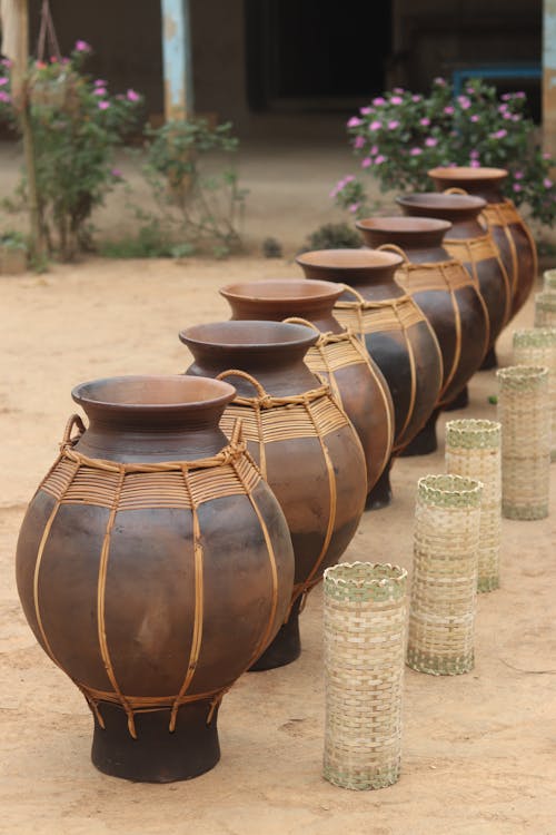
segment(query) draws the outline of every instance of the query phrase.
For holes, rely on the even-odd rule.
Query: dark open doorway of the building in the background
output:
[[[349,110],[385,87],[391,0],[246,0],[249,106]]]

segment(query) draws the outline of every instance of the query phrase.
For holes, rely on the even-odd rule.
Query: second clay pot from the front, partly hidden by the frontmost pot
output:
[[[248,449],[289,525],[296,574],[291,611],[251,669],[294,661],[299,608],[325,569],[338,562],[359,523],[367,492],[361,444],[346,413],[305,365],[318,334],[277,322],[218,322],[180,333],[195,363],[188,374],[234,381],[220,426],[241,419]]]

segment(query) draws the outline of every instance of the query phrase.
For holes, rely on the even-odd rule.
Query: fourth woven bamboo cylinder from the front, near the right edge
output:
[[[502,423],[502,513],[507,519],[548,515],[550,415],[548,369],[499,369]]]

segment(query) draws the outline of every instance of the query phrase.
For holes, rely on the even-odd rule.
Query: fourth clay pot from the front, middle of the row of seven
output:
[[[443,360],[423,311],[395,281],[404,259],[373,249],[321,249],[297,258],[307,278],[349,285],[336,303],[340,324],[361,338],[383,372],[394,401],[394,453],[407,446],[438,402]],[[373,491],[388,503],[388,470]]]

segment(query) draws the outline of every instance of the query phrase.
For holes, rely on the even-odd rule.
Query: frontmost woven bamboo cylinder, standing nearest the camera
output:
[[[325,571],[324,777],[342,788],[399,777],[406,580],[389,563]]]

